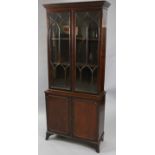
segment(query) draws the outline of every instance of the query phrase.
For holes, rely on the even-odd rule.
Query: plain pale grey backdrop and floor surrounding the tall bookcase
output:
[[[46,12],[42,4],[61,2],[80,2],[86,0],[39,0],[38,1],[38,148],[39,155],[51,154],[96,154],[86,144],[51,137],[45,141],[46,114],[44,91],[48,88],[47,73],[47,27]],[[89,0],[90,1],[90,0]],[[108,0],[111,6],[107,16],[107,47],[106,47],[106,74],[105,90],[106,115],[105,139],[101,143],[101,153],[104,155],[116,154],[116,1]]]

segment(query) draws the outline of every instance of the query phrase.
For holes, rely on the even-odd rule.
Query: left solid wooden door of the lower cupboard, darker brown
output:
[[[69,102],[67,97],[46,96],[48,131],[69,133]]]

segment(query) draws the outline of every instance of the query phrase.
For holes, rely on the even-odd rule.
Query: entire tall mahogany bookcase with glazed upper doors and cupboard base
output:
[[[106,1],[46,4],[46,139],[59,134],[99,152],[104,136]]]

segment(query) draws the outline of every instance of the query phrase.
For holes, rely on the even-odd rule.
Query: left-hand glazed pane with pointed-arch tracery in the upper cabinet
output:
[[[68,12],[48,14],[52,68],[50,87],[70,89],[70,19]]]

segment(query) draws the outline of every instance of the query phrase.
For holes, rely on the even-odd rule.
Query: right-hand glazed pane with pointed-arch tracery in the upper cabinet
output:
[[[97,93],[99,12],[76,13],[76,91]]]

